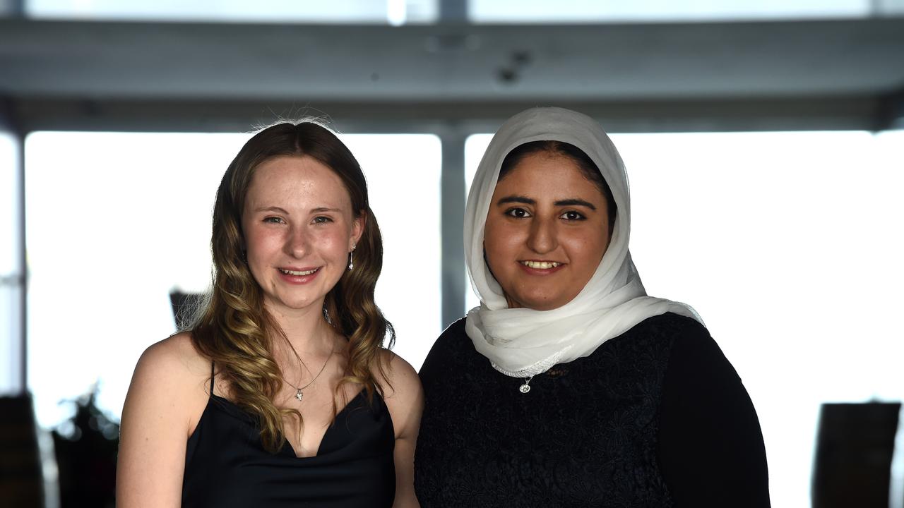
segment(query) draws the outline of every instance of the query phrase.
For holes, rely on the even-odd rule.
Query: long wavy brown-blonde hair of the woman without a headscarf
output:
[[[259,131],[242,146],[223,174],[213,205],[213,284],[190,325],[194,347],[219,367],[229,383],[230,396],[258,419],[261,444],[271,453],[286,443],[284,419],[297,418],[297,409],[278,408],[274,398],[282,386],[282,372],[273,356],[273,342],[287,340],[263,306],[263,295],[244,261],[241,214],[257,167],[281,155],[309,156],[337,174],[351,197],[355,217],[364,217],[361,240],[354,250],[354,269],[346,270],[327,293],[324,316],[336,332],[348,338],[346,383],[363,385],[368,400],[381,390],[375,373],[385,379],[389,355],[383,342],[395,333],[373,301],[382,268],[382,240],[367,197],[367,183],[352,152],[334,133],[314,121],[283,122]],[[335,414],[335,404],[334,404]]]

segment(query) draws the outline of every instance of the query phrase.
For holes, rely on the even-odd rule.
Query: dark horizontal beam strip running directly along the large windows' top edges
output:
[[[16,118],[33,130],[236,132],[280,118],[313,116],[345,132],[442,132],[449,123],[493,132],[533,106],[586,112],[610,132],[733,130],[881,130],[891,125],[889,98],[464,101],[202,101],[18,99]],[[895,103],[900,107],[900,99]],[[900,114],[900,108],[898,109]]]

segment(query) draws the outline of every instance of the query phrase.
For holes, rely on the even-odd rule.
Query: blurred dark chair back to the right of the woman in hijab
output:
[[[813,508],[888,508],[900,403],[823,404]]]

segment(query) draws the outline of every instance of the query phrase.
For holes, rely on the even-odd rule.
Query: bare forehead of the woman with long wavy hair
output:
[[[338,174],[307,155],[283,155],[258,165],[251,177],[246,202],[257,205],[351,207],[351,198]]]

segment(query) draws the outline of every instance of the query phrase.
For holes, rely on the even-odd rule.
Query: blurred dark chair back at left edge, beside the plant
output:
[[[44,505],[41,453],[30,395],[0,397],[0,505]]]

